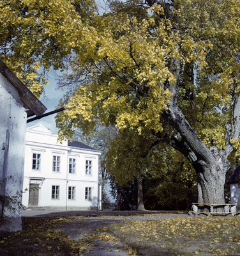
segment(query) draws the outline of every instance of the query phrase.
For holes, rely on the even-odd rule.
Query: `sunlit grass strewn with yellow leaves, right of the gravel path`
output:
[[[186,217],[114,223],[109,232],[143,255],[240,255],[240,218]]]

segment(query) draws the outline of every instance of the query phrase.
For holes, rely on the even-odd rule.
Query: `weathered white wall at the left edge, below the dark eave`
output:
[[[19,102],[15,89],[0,74],[0,180],[13,177],[0,186],[1,195],[15,196],[23,185],[27,114]],[[22,229],[21,210],[7,210],[4,214],[11,223],[1,225],[0,230],[11,232]]]

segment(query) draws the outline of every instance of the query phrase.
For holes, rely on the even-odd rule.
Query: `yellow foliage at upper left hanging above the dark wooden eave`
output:
[[[47,84],[40,70],[63,68],[77,51],[80,31],[91,19],[91,0],[3,0],[0,2],[0,58],[36,95]]]

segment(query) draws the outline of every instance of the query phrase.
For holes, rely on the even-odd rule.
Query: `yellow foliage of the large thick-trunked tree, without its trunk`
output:
[[[76,126],[88,129],[94,118],[139,134],[164,131],[161,113],[176,83],[170,61],[178,58],[183,67],[179,107],[207,146],[225,148],[224,124],[233,83],[239,84],[234,71],[239,1],[181,0],[164,10],[164,4],[154,4],[146,12],[137,3],[129,3],[128,11],[112,4],[111,12],[95,17],[99,26],[82,29],[79,52],[68,60],[69,72],[60,81],[71,92],[64,102],[68,111],[57,118],[60,139]],[[194,67],[194,81],[185,76],[188,67]],[[195,95],[192,106],[188,90]]]

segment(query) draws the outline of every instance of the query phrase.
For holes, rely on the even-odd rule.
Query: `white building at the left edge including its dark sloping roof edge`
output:
[[[33,93],[0,60],[0,195],[16,196],[22,191],[27,116],[41,116],[47,110]],[[10,179],[11,177],[11,179]],[[5,196],[5,197],[4,197]],[[19,198],[21,202],[22,198]],[[4,200],[0,202],[3,209]],[[16,205],[11,205],[15,207]],[[0,230],[22,229],[21,209],[1,211],[6,223]],[[10,222],[9,222],[10,221]]]

